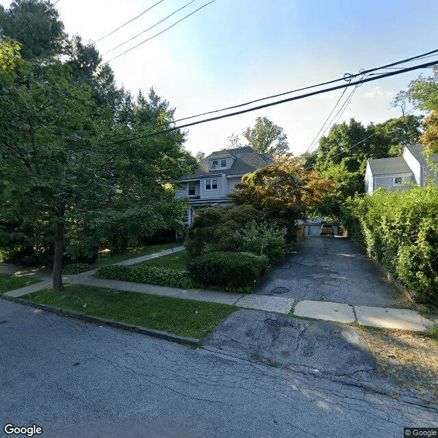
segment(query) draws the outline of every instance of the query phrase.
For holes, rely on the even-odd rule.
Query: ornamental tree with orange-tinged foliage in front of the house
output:
[[[237,205],[253,205],[264,218],[286,227],[291,239],[297,220],[305,220],[311,207],[324,203],[323,195],[335,190],[331,179],[306,170],[296,157],[274,159],[276,164],[248,173],[231,197]]]

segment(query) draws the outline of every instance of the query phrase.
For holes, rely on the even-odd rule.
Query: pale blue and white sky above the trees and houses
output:
[[[436,0],[214,0],[163,34],[116,57],[209,0],[187,5],[189,1],[59,0],[55,8],[69,36],[79,34],[83,42],[96,43],[103,61],[112,66],[118,86],[134,96],[139,90],[147,94],[153,87],[176,109],[176,119],[330,81],[438,48]],[[136,20],[99,40],[157,2]],[[0,3],[8,7],[10,1]],[[110,51],[184,5],[163,23]],[[438,56],[428,58],[434,59]],[[368,125],[401,116],[391,100],[420,73],[430,75],[431,70],[363,84],[334,121],[355,118]],[[242,132],[255,125],[257,117],[266,116],[283,127],[290,151],[300,155],[318,147],[318,142],[311,144],[341,94],[342,90],[337,90],[190,127],[185,129],[185,148],[208,155],[229,147],[227,137],[232,133],[240,134],[246,144]],[[329,128],[324,132],[328,134]]]

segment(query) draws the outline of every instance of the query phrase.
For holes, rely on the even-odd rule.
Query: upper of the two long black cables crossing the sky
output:
[[[196,114],[195,116],[188,116],[188,117],[179,118],[177,120],[172,120],[172,122],[173,123],[178,123],[178,122],[183,122],[184,120],[190,120],[191,118],[207,116],[209,114],[215,114],[215,113],[222,112],[222,111],[227,111],[227,110],[235,110],[235,108],[244,107],[244,106],[247,106],[247,105],[251,105],[253,103],[257,103],[257,102],[261,102],[261,101],[266,101],[268,99],[274,99],[276,97],[285,96],[287,94],[292,94],[292,93],[299,92],[299,91],[310,90],[311,88],[318,88],[318,87],[330,85],[331,83],[336,83],[336,82],[339,82],[339,81],[348,81],[348,80],[354,79],[355,77],[363,76],[365,74],[374,72],[376,70],[383,70],[383,69],[388,68],[390,66],[394,66],[394,65],[398,65],[398,64],[404,64],[406,62],[411,62],[413,60],[420,60],[423,57],[434,56],[434,55],[432,55],[432,53],[438,53],[438,49],[430,51],[428,53],[423,53],[422,55],[417,55],[417,56],[414,56],[414,57],[409,57],[409,58],[407,58],[405,60],[401,60],[401,61],[397,61],[397,62],[392,62],[391,64],[387,64],[385,66],[370,68],[369,70],[361,70],[359,73],[355,73],[354,75],[352,75],[350,73],[346,73],[344,75],[344,77],[340,77],[338,79],[333,79],[331,81],[317,83],[315,85],[307,86],[307,87],[304,87],[304,88],[297,88],[296,90],[286,91],[286,92],[283,92],[283,93],[274,94],[272,96],[262,97],[261,99],[255,99],[253,101],[248,101],[248,102],[245,102],[245,103],[240,103],[238,105],[232,105],[232,106],[229,106],[229,107],[221,108],[220,110],[213,110],[213,111],[203,112],[201,114]],[[378,74],[380,75],[381,73],[378,73]],[[161,127],[161,126],[164,126],[164,125],[153,125],[151,127],[135,129],[135,130],[131,131],[131,133],[142,132],[142,131],[146,131],[148,129],[153,129],[153,128],[157,128],[157,127]]]

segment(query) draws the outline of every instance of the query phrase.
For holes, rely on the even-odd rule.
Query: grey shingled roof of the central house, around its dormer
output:
[[[210,159],[220,157],[233,157],[234,162],[231,168],[215,170],[214,173],[223,173],[224,175],[244,175],[248,172],[254,172],[254,170],[273,164],[272,157],[267,153],[257,153],[250,146],[244,146],[242,148],[224,149],[223,151],[216,151],[211,153],[208,157],[201,159],[196,171],[190,175],[185,175],[181,178],[181,181],[185,179],[199,178],[204,175],[209,175],[208,162]]]

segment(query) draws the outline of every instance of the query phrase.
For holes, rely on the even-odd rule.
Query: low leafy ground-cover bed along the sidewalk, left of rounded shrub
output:
[[[155,266],[102,266],[96,271],[95,276],[99,279],[133,281],[134,283],[178,287],[180,289],[193,289],[199,286],[187,271]]]

